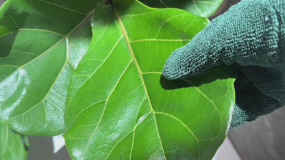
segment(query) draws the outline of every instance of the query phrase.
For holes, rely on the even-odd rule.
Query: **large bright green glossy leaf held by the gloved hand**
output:
[[[227,133],[234,78],[222,68],[180,81],[161,76],[171,52],[207,23],[138,1],[99,5],[67,96],[71,157],[210,159]]]

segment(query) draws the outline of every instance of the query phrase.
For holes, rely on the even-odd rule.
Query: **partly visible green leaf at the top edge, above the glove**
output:
[[[153,8],[181,8],[196,14],[209,17],[219,8],[223,0],[140,0]]]

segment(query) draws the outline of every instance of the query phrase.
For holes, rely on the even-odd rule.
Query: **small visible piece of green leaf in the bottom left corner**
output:
[[[23,142],[26,139],[27,137],[0,123],[0,159],[26,159],[27,146]]]

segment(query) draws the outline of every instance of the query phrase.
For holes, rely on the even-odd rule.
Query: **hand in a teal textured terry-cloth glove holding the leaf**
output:
[[[243,0],[167,59],[166,79],[238,65],[231,128],[285,105],[285,1]]]

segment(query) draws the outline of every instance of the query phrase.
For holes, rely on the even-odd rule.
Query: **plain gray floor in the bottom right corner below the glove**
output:
[[[285,159],[285,107],[229,132],[242,159]]]

